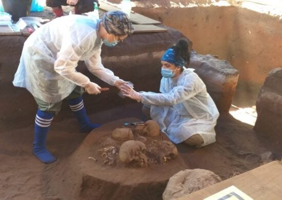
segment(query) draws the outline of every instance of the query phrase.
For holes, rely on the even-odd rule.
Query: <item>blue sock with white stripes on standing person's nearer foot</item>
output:
[[[34,142],[32,153],[42,163],[50,164],[56,161],[54,157],[46,149],[46,137],[53,119],[53,114],[41,110],[37,110],[34,125]]]

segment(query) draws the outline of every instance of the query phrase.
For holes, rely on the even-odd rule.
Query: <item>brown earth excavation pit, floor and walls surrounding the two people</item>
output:
[[[134,34],[123,45],[113,49],[103,47],[105,67],[134,83],[138,91],[157,92],[160,57],[179,38],[189,38],[196,51],[196,56],[192,57],[194,64],[202,58],[207,59],[204,64],[193,66],[192,62],[189,67],[197,67],[196,72],[206,78],[208,91],[220,110],[215,127],[217,142],[201,149],[178,144],[177,158],[165,165],[136,168],[95,161],[97,156],[91,148],[98,150],[94,145],[98,135],[109,134],[129,122],[127,117],[137,118],[130,119],[132,122],[143,117],[142,105],[119,98],[118,91],[110,87],[99,96],[84,95],[91,121],[106,125],[95,133],[80,134],[72,113],[63,104],[62,111],[54,117],[47,139],[48,149],[58,160],[52,165],[43,165],[31,154],[36,104],[26,90],[14,88],[11,83],[27,37],[0,36],[0,196],[4,199],[162,199],[169,177],[180,170],[207,169],[224,180],[281,158],[280,132],[271,127],[275,131],[271,134],[266,128],[278,123],[264,121],[275,119],[275,116],[270,117],[273,113],[280,117],[279,113],[271,111],[275,110],[271,99],[267,99],[271,109],[266,110],[262,105],[266,98],[260,98],[263,115],[260,116],[261,124],[256,125],[259,134],[253,126],[237,121],[228,113],[232,98],[233,103],[238,103],[236,105],[254,105],[269,71],[281,67],[282,24],[279,16],[236,6],[140,6],[134,10],[162,21],[168,32]],[[50,16],[48,12],[50,10],[35,15]],[[176,21],[178,16],[183,17]],[[228,73],[230,70],[224,66],[216,69],[210,65],[211,61],[222,63],[222,59],[233,66],[232,73]],[[80,63],[78,69],[92,81],[108,87],[92,76],[84,64]],[[268,89],[265,91],[269,92]],[[281,96],[279,88],[276,89],[275,96]],[[117,119],[120,121],[115,121]]]

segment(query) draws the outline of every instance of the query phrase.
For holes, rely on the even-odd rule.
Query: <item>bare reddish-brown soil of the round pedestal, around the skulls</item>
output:
[[[118,152],[108,152],[101,156],[101,139],[111,134],[116,127],[124,123],[136,122],[136,118],[124,118],[107,123],[97,130],[93,130],[84,140],[82,145],[67,158],[68,168],[65,168],[62,178],[65,179],[64,187],[72,188],[64,199],[161,199],[168,179],[180,170],[186,169],[181,156],[163,163],[152,163],[148,159],[148,167],[137,167],[133,163],[125,165],[115,159]],[[135,135],[135,139],[138,139]],[[146,155],[149,155],[150,138]],[[153,139],[153,138],[151,138]],[[160,139],[160,138],[154,138]],[[105,141],[103,142],[105,145]],[[108,146],[108,145],[106,145]],[[104,147],[106,147],[104,146]],[[118,142],[113,146],[118,147]],[[144,152],[145,153],[145,152]],[[160,153],[160,152],[159,152]],[[114,163],[105,162],[113,161]],[[103,164],[104,163],[104,164]],[[55,180],[57,181],[57,180]],[[51,180],[52,182],[52,180]],[[124,192],[126,191],[126,192]]]

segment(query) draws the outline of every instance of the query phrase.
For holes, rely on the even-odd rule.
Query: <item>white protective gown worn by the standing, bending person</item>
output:
[[[66,98],[89,78],[75,70],[85,61],[88,70],[109,85],[119,79],[101,62],[103,44],[99,19],[82,15],[58,17],[32,33],[26,40],[13,84],[26,88],[48,103]]]

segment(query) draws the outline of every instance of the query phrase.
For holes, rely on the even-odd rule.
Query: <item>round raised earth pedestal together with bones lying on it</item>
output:
[[[138,134],[139,130],[135,130],[135,126],[130,126],[134,140],[124,142],[112,138],[112,132],[116,127],[137,121],[134,118],[125,118],[107,123],[93,130],[85,138],[68,159],[69,169],[64,178],[66,187],[72,188],[69,197],[162,198],[168,179],[187,167],[177,156],[176,147],[162,135],[142,136]],[[123,150],[122,146],[126,148]],[[122,162],[119,158],[120,151],[128,151],[127,162]]]

